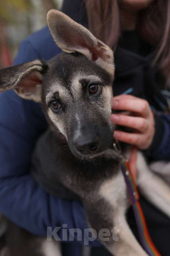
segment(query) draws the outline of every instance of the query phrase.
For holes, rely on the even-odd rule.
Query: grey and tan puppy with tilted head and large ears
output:
[[[51,10],[47,21],[63,52],[47,63],[34,60],[0,71],[0,91],[14,89],[25,99],[41,102],[49,122],[37,143],[32,174],[49,193],[81,200],[97,234],[117,227],[119,240],[102,242],[113,255],[146,256],[126,222],[122,158],[111,149],[113,52],[62,12]],[[137,182],[143,195],[170,217],[170,188],[149,172],[141,153]],[[56,241],[28,235],[16,226],[12,230],[8,255],[61,255]]]

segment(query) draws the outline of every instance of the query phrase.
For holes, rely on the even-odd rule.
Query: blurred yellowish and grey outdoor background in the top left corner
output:
[[[0,0],[0,69],[12,64],[19,44],[44,27],[50,9],[60,9],[63,0]]]

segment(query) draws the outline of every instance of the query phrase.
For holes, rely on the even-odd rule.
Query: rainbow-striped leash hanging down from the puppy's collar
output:
[[[116,151],[120,153],[120,147],[117,141],[113,142],[113,147]],[[133,179],[133,176],[130,172],[130,168],[127,160],[125,160],[122,163],[121,170],[127,185],[128,195],[132,204],[142,247],[149,256],[161,256],[161,254],[158,252],[158,250],[154,246],[151,240],[151,237],[149,235],[145,217],[144,217],[141,205],[139,203],[139,193],[138,193],[135,181]]]

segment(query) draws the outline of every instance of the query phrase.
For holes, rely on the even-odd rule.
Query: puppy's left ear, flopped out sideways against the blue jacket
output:
[[[34,60],[0,70],[0,92],[14,89],[22,98],[41,102],[41,83],[47,64]]]

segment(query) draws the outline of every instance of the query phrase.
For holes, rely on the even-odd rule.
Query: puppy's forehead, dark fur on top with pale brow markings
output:
[[[110,85],[112,77],[82,54],[60,53],[50,61],[48,76],[44,83],[46,101],[58,94],[63,101],[79,99],[82,96],[82,81],[103,82]]]

